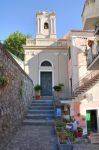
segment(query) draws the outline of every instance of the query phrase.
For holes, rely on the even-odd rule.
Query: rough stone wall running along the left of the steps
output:
[[[32,97],[32,80],[0,45],[0,150],[21,123]]]

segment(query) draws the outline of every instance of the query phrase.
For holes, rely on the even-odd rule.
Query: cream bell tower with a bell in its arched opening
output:
[[[56,38],[56,14],[40,11],[36,14],[36,38]]]

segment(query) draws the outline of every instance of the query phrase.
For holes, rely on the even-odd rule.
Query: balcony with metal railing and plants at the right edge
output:
[[[92,47],[87,51],[88,70],[99,70],[99,39],[95,39]]]

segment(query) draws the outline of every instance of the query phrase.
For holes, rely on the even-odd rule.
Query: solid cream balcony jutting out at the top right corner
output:
[[[99,21],[99,0],[86,0],[82,21],[84,30],[94,30],[96,23]]]

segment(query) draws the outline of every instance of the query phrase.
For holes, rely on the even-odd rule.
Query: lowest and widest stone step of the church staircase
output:
[[[34,120],[34,119],[25,119],[23,121],[23,125],[54,125],[54,120],[51,119],[39,119],[39,120]]]

